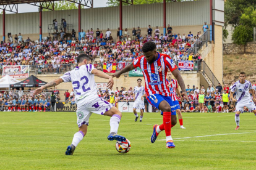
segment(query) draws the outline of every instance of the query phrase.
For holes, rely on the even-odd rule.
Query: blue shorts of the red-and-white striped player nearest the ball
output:
[[[164,96],[161,94],[152,94],[147,97],[148,102],[153,106],[159,109],[159,104],[165,100],[169,103],[171,106],[171,115],[176,115],[176,108],[174,106],[173,100],[171,100],[171,97]]]

